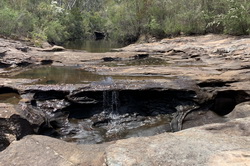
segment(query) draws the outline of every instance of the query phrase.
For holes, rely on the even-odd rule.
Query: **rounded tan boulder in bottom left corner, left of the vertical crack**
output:
[[[35,166],[101,166],[105,148],[102,145],[77,145],[46,136],[27,136],[13,142],[0,153],[0,165]]]

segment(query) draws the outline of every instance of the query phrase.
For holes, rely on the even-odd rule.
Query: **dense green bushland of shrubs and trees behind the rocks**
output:
[[[118,42],[250,34],[249,0],[1,0],[0,35],[63,44],[94,31]]]

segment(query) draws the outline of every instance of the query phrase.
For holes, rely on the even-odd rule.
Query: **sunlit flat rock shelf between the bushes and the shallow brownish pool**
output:
[[[196,83],[220,82],[230,85],[233,82],[247,83],[250,79],[250,38],[247,37],[224,35],[178,37],[155,43],[132,44],[118,49],[120,52],[107,53],[63,49],[59,52],[44,52],[35,47],[29,47],[27,52],[22,52],[18,48],[26,47],[24,43],[4,39],[0,41],[2,50],[7,50],[5,56],[7,59],[3,59],[2,63],[7,65],[25,66],[29,63],[50,62],[52,65],[82,67],[101,75],[166,78],[156,80],[159,83],[162,80],[171,82],[169,79],[175,80],[176,77],[177,80],[183,77]],[[49,50],[53,50],[53,47]],[[147,58],[164,63],[138,62]],[[113,61],[105,62],[105,59]],[[244,84],[243,87],[249,86]]]

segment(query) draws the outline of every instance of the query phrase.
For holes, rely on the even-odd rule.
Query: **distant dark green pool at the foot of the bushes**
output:
[[[113,48],[124,47],[124,45],[110,40],[76,40],[66,43],[64,47],[88,52],[108,52]]]

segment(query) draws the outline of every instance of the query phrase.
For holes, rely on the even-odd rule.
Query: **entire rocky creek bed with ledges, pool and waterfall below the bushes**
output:
[[[88,53],[0,39],[0,165],[247,165],[249,46],[206,35]]]

